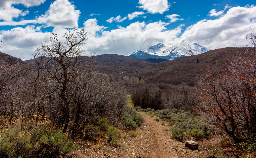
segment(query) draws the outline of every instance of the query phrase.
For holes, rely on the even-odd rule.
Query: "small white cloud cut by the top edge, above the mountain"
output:
[[[141,4],[139,8],[147,10],[152,14],[163,14],[165,11],[168,11],[170,7],[167,0],[140,0],[139,4]]]

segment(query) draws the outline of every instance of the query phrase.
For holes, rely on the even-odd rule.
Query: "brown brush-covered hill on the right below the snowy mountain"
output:
[[[228,59],[246,48],[221,48],[207,51],[199,55],[181,57],[172,61],[164,61],[143,69],[137,76],[142,77],[146,83],[180,84],[182,82],[194,86],[198,76],[207,73],[209,67],[218,67],[224,71]],[[197,58],[199,62],[197,63]]]

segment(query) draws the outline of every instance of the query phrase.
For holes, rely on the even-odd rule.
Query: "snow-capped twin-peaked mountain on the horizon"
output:
[[[162,58],[173,60],[183,56],[191,56],[204,53],[210,49],[201,46],[197,43],[182,41],[181,43],[171,46],[166,49],[163,43],[158,43],[149,47],[148,49],[140,49],[132,53],[124,54],[126,56],[146,59],[146,58]]]

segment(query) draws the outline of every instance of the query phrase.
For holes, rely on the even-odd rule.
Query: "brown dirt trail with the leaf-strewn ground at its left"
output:
[[[171,139],[170,126],[162,125],[162,121],[155,121],[156,116],[141,114],[145,121],[136,130],[136,137],[124,136],[121,142],[125,145],[121,148],[113,148],[106,144],[101,149],[94,150],[92,145],[81,146],[73,152],[74,157],[152,157],[152,158],[180,158],[180,157],[206,157],[205,151],[192,151],[186,149],[184,143]]]

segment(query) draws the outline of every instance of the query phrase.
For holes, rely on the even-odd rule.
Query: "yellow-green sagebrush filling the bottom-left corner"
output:
[[[0,157],[26,157],[32,145],[28,136],[18,127],[4,129],[0,138]]]

